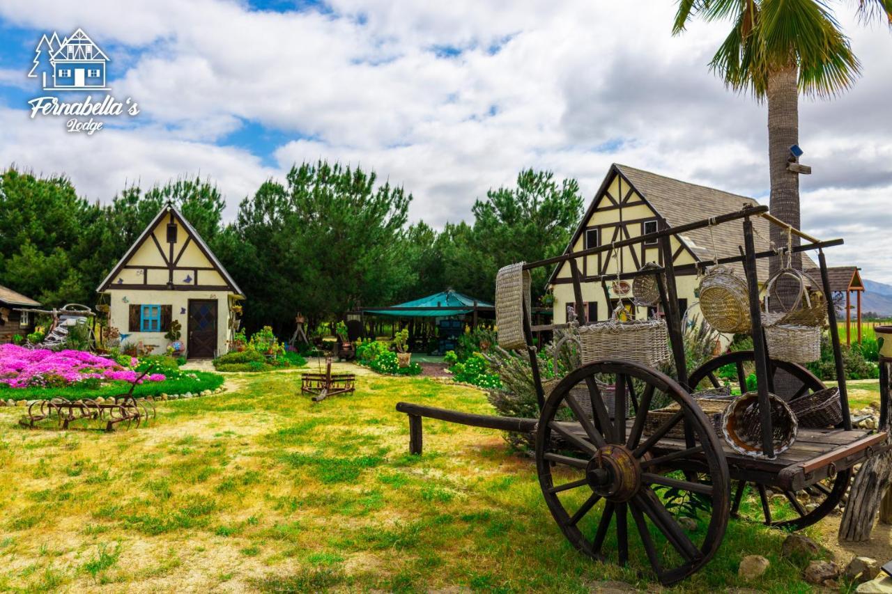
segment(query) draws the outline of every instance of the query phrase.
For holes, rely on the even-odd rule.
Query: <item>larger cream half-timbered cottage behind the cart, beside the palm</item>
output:
[[[626,165],[614,164],[607,172],[603,184],[586,210],[582,222],[574,232],[567,249],[578,252],[600,245],[609,245],[637,235],[657,231],[661,220],[673,227],[699,219],[721,215],[744,206],[756,206],[758,202],[738,194],[731,194],[711,187],[690,184],[671,177],[664,177],[649,171],[634,169]],[[756,228],[756,250],[769,248],[769,223],[761,217],[753,219]],[[740,220],[725,223],[720,227],[706,227],[681,235],[673,235],[671,248],[675,266],[694,262],[711,262],[714,258],[739,255],[739,241],[728,241],[729,237],[743,236]],[[638,270],[646,262],[663,264],[663,254],[657,242],[636,243],[632,246],[600,252],[587,256],[579,262],[583,279],[593,276],[615,274]],[[739,274],[743,269],[735,266]],[[803,254],[804,268],[814,268],[815,264]],[[760,282],[768,276],[768,260],[758,260]],[[677,271],[679,310],[690,308],[690,316],[697,315],[697,288],[699,279],[693,271]],[[644,318],[662,315],[658,308],[636,307],[632,305],[634,295],[631,284],[607,281],[607,295],[598,283],[582,285],[582,299],[586,304],[586,318],[590,321],[605,320],[616,309],[620,300],[629,315]],[[549,286],[554,293],[555,324],[566,322],[568,309],[574,305],[573,285],[568,264],[555,268],[549,278]],[[625,291],[629,291],[626,294]]]

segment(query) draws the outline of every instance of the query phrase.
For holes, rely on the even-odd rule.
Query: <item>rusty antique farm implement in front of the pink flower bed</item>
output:
[[[72,423],[99,422],[105,431],[114,431],[117,426],[138,427],[148,424],[155,418],[155,407],[151,400],[133,398],[129,394],[115,396],[103,402],[85,398],[83,400],[35,400],[28,407],[28,414],[21,417],[20,423],[34,428],[41,421],[55,421],[60,429],[70,429]]]

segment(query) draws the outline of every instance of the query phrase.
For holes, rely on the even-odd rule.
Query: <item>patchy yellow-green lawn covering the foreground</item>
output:
[[[359,373],[355,395],[318,404],[298,373],[228,375],[229,392],[159,403],[155,425],[111,434],[21,429],[21,410],[0,408],[0,590],[648,585],[640,556],[620,569],[567,544],[532,462],[498,433],[425,420],[425,455],[408,454],[398,400],[491,413],[482,392]],[[784,537],[732,522],[676,590],[808,591]],[[737,577],[749,554],[772,561],[757,584]]]

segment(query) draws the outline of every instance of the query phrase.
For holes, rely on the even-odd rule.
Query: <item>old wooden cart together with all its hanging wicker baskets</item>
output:
[[[678,582],[706,565],[747,492],[753,499],[757,496],[756,506],[761,507],[760,516],[766,524],[799,529],[829,514],[843,497],[853,466],[886,449],[887,435],[855,430],[849,417],[836,312],[823,253],[842,240],[819,241],[783,226],[767,210],[764,206],[747,207],[676,227],[661,219],[652,233],[515,265],[516,270],[510,271],[515,276],[510,278],[521,290],[510,293],[497,285],[497,310],[500,289],[505,289],[503,296],[516,295],[512,306],[516,324],[500,321],[499,340],[500,344],[508,342],[506,348],[526,351],[539,417],[488,417],[400,402],[397,410],[409,416],[410,450],[422,452],[423,417],[534,433],[542,497],[566,539],[582,553],[602,561],[650,565],[665,584]],[[786,248],[756,252],[753,220],[757,217],[784,227],[805,242],[794,245],[790,240]],[[737,229],[742,227],[739,256],[706,264],[673,264],[673,237],[681,241],[680,234],[731,221],[737,221]],[[723,237],[731,241],[731,233]],[[644,242],[657,243],[658,264],[635,272],[621,273],[617,266],[615,274],[584,278],[580,274],[577,260]],[[792,319],[792,312],[772,314],[764,306],[760,293],[770,289],[773,280],[762,279],[760,289],[756,262],[812,250],[818,254],[820,281],[806,287],[808,279],[803,280],[800,297],[804,305],[795,312],[798,321],[780,324],[778,318]],[[531,325],[530,304],[523,291],[528,276],[524,275],[532,268],[565,263],[571,273],[566,282],[574,288],[582,364],[558,382],[551,380],[543,386],[533,331],[564,331],[567,325]],[[744,274],[735,279],[729,267],[740,264]],[[753,349],[719,356],[689,375],[676,275],[706,268],[710,272],[699,292],[704,317],[711,316],[714,326],[727,324],[734,328],[731,332],[751,334]],[[789,269],[785,274],[796,276]],[[607,282],[618,285],[643,278],[650,281],[657,296],[655,305],[663,312],[662,320],[634,324],[613,320],[585,326],[583,284],[600,283],[609,300]],[[708,294],[711,291],[714,295]],[[805,291],[811,291],[811,296]],[[819,293],[827,297],[822,300]],[[707,302],[715,295],[728,299]],[[510,318],[512,312],[506,311]],[[838,378],[838,390],[832,391],[797,362],[807,360],[802,357],[808,353],[802,351],[814,350],[810,342],[814,326],[827,322]],[[807,326],[809,323],[813,326]],[[795,339],[800,331],[811,338],[791,341],[780,334],[793,333]],[[512,333],[516,335],[508,335]],[[664,333],[662,344],[660,333]],[[820,338],[820,327],[817,335]],[[592,345],[598,348],[593,350]],[[664,357],[659,349],[665,350],[666,345],[669,352],[665,356],[672,364],[668,367],[674,369],[671,375],[665,373],[667,366],[662,366],[664,371],[657,369],[657,361]],[[789,385],[776,390],[775,384],[781,382]],[[887,394],[881,394],[881,399],[885,414]],[[836,408],[828,408],[827,403]],[[715,412],[714,406],[723,412]],[[698,503],[693,522],[679,513],[691,501]]]

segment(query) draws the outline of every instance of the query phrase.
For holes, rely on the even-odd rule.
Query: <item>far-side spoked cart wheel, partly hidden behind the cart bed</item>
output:
[[[747,375],[754,366],[753,351],[731,352],[706,361],[698,367],[690,375],[690,385],[694,386],[695,390],[718,388],[723,385],[724,377],[729,379],[732,388],[737,387],[741,393],[747,392]],[[777,369],[782,369],[792,376],[792,387],[795,392],[789,400],[825,388],[816,375],[797,363],[771,359],[768,367],[769,381]],[[728,375],[731,377],[729,378]],[[743,516],[761,516],[765,525],[786,530],[802,530],[805,526],[822,520],[839,505],[839,501],[846,494],[851,478],[851,470],[846,470],[821,483],[805,487],[801,491],[774,490],[772,492],[769,492],[769,488],[763,484],[739,481],[734,488],[734,497],[731,501],[731,516],[740,517],[740,508],[743,506]],[[747,484],[750,485],[749,490],[747,490]],[[757,511],[755,514],[747,514],[747,508],[752,506],[761,507],[761,514],[758,514]]]

